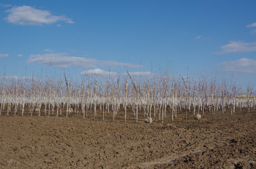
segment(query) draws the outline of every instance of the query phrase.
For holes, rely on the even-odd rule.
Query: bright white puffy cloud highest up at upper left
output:
[[[55,23],[59,20],[63,20],[66,23],[74,23],[72,19],[66,16],[54,16],[51,12],[46,10],[35,9],[31,6],[18,6],[13,7],[5,12],[10,12],[8,17],[4,18],[9,23],[20,25],[42,25]]]

